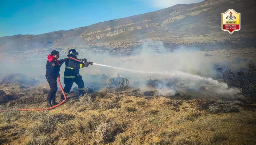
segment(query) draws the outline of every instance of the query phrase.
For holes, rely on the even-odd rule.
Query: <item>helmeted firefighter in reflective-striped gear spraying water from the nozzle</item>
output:
[[[77,59],[77,56],[79,53],[75,49],[69,50],[68,57],[72,57]],[[69,58],[65,62],[65,71],[64,71],[64,84],[65,87],[63,88],[65,95],[67,96],[70,92],[70,89],[72,88],[73,83],[75,82],[78,86],[79,95],[84,95],[84,81],[82,79],[82,76],[79,74],[79,69],[83,67],[88,67],[89,63],[87,62],[87,59],[78,59],[82,62],[78,62],[76,60],[73,60]],[[64,100],[64,95],[62,94],[61,100]]]

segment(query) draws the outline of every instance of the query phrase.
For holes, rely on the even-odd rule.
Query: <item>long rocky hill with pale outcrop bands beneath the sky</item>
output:
[[[256,10],[254,0],[205,0],[66,31],[1,37],[0,52],[211,34],[222,31],[221,13],[230,8],[241,13],[240,31],[255,27],[255,19],[252,19]]]

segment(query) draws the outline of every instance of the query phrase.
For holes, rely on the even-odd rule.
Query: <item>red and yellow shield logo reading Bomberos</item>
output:
[[[233,9],[229,9],[227,12],[222,13],[222,30],[228,31],[232,34],[234,31],[239,31],[241,26],[241,15]]]

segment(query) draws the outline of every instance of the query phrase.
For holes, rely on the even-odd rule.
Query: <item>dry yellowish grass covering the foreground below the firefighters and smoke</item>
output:
[[[11,85],[8,87],[14,87],[14,92],[20,89]],[[0,89],[3,87],[0,86]],[[28,91],[27,88],[23,90]],[[97,97],[86,94],[50,111],[25,112],[14,109],[0,113],[0,141],[3,144],[31,145],[214,145],[256,142],[254,107],[247,110],[227,102],[201,99],[184,101],[157,96],[146,100],[146,97],[130,96],[130,92],[132,90],[118,93],[109,91],[101,97],[97,93]],[[27,102],[34,97],[42,98],[42,93],[32,93],[32,89],[26,93],[30,94],[24,99],[9,101],[0,107],[40,107],[39,102],[43,99]],[[234,108],[239,111],[232,111]]]

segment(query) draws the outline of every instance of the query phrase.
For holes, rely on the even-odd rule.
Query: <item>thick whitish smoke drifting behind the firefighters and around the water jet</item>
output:
[[[19,72],[35,78],[41,75],[38,78],[43,84],[47,84],[44,78],[45,64],[47,55],[52,50],[42,51],[38,49],[3,54],[1,61],[4,63],[1,63],[0,67],[5,69],[1,74]],[[58,51],[60,52],[60,59],[62,59],[66,58],[69,49],[58,49]],[[227,84],[223,82],[210,78],[216,74],[213,69],[214,63],[210,57],[198,53],[199,50],[197,49],[169,50],[164,47],[162,42],[147,42],[126,57],[112,57],[107,52],[96,54],[86,49],[77,49],[77,51],[80,53],[79,59],[87,58],[88,61],[97,64],[133,70],[127,71],[89,65],[89,67],[80,70],[86,87],[93,86],[95,89],[100,89],[109,86],[110,77],[116,77],[118,73],[129,78],[129,87],[140,87],[142,89],[152,89],[148,87],[147,83],[149,82],[148,77],[153,75],[159,80],[155,82],[155,87],[161,94],[175,95],[177,92],[191,90],[200,92],[202,87],[207,89],[209,95],[216,94],[216,96],[234,95],[240,92],[237,89],[228,88]],[[62,66],[61,77],[63,77],[63,72],[64,67]],[[63,78],[61,78],[61,82],[63,84]],[[73,87],[75,86],[74,84]]]

